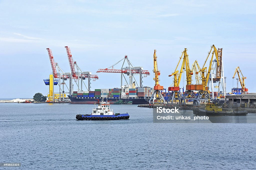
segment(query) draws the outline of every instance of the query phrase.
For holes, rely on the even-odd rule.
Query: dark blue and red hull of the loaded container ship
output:
[[[72,96],[68,96],[69,99],[71,100],[71,104],[94,104],[97,99],[99,99],[100,101],[102,100],[102,98],[76,98],[76,97],[72,97]],[[114,104],[116,101],[118,101],[121,98],[104,98],[105,100],[108,100],[108,102],[110,104]],[[128,98],[128,99],[121,99],[123,100],[123,102],[128,102],[128,101],[132,101],[132,104],[134,105],[143,105],[143,104],[149,104],[149,99],[147,98]]]

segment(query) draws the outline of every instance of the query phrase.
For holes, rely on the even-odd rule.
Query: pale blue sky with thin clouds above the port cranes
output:
[[[61,69],[70,72],[65,46],[83,71],[98,74],[99,80],[91,82],[94,90],[120,87],[120,74],[96,72],[124,55],[134,66],[151,72],[143,78],[143,85],[153,87],[154,49],[160,84],[167,88],[173,82],[168,75],[184,48],[190,66],[195,60],[202,66],[214,44],[223,48],[227,92],[237,86],[232,79],[237,66],[247,77],[249,92],[256,92],[255,6],[255,1],[236,0],[0,0],[0,98],[33,97],[38,92],[46,95],[49,86],[43,79],[52,72],[46,48],[52,50]]]

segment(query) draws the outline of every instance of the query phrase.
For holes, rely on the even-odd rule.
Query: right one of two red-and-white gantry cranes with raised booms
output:
[[[90,80],[92,81],[95,81],[97,79],[99,79],[98,75],[93,75],[91,74],[91,72],[82,72],[82,70],[80,69],[80,67],[77,65],[77,62],[74,61],[73,62],[73,58],[72,58],[72,54],[71,54],[71,51],[70,51],[70,48],[68,46],[65,46],[66,50],[67,50],[67,55],[68,55],[68,60],[69,60],[69,65],[70,65],[70,69],[71,69],[71,73],[72,73],[72,78],[74,78],[75,82],[76,80],[78,80],[78,91],[80,91],[80,87],[79,87],[79,80],[81,79],[81,91],[83,90],[82,89],[82,84],[85,85],[85,83],[83,82],[83,80],[85,79],[88,79],[88,88],[87,86],[85,85],[85,87],[87,88],[88,91],[90,91]],[[77,72],[75,70],[75,66],[77,68]]]

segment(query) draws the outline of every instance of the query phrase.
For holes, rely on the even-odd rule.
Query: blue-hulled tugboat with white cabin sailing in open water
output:
[[[77,120],[120,120],[120,119],[129,119],[130,116],[126,112],[126,114],[120,114],[113,112],[113,109],[110,109],[110,104],[108,100],[106,101],[99,101],[98,100],[98,108],[96,106],[92,108],[92,113],[86,115],[76,115]],[[96,104],[96,103],[95,103]]]

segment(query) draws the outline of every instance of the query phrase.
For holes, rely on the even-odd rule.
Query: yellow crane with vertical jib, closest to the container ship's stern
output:
[[[156,56],[156,50],[154,50],[154,55],[153,55],[153,59],[154,59],[154,70],[153,72],[155,73],[155,77],[153,78],[153,80],[155,81],[155,86],[154,86],[154,93],[151,96],[149,103],[160,103],[160,104],[165,104],[165,99],[161,93],[161,90],[164,89],[163,86],[161,86],[159,84],[159,75],[160,75],[160,71],[158,70],[158,66],[157,66],[157,56]],[[156,100],[156,102],[155,102]]]

